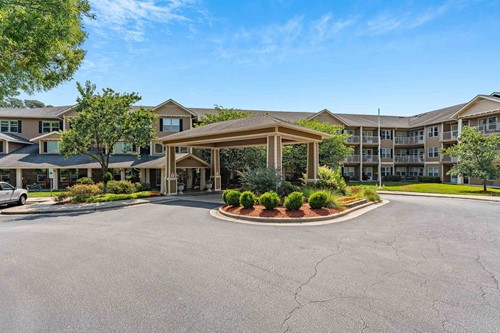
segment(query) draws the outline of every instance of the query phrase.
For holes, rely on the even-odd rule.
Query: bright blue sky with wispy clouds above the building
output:
[[[91,0],[76,82],[139,104],[413,115],[500,91],[500,1]]]

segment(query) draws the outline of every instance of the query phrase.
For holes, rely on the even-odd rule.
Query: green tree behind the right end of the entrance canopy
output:
[[[345,158],[352,150],[351,147],[345,145],[345,140],[349,137],[349,134],[343,134],[342,127],[326,122],[319,122],[317,120],[300,120],[297,124],[316,131],[331,134],[332,138],[325,139],[319,144],[319,163],[333,169],[342,165]],[[293,169],[295,177],[302,175],[306,169],[306,165],[306,145],[283,146],[283,167]]]

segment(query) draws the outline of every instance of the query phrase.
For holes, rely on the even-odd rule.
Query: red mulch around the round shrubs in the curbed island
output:
[[[257,217],[278,217],[278,218],[301,218],[301,217],[317,217],[337,214],[340,211],[332,208],[312,209],[309,205],[304,204],[299,210],[289,211],[285,207],[279,206],[273,210],[267,210],[264,206],[255,205],[253,208],[231,207],[225,205],[222,207],[225,212],[235,215],[257,216]]]

